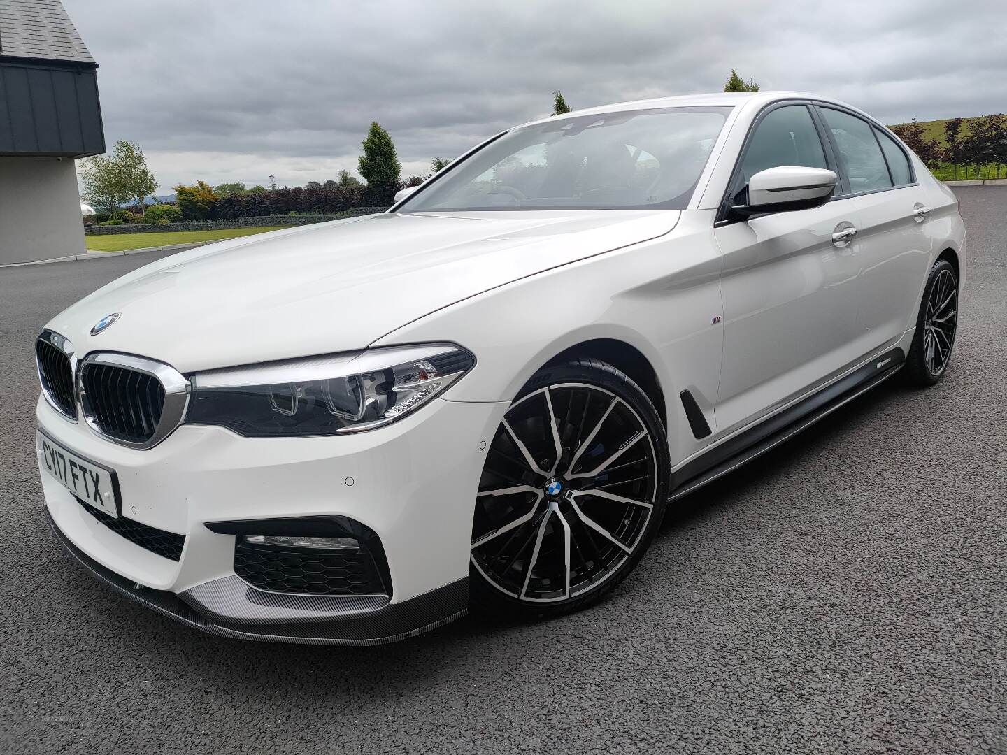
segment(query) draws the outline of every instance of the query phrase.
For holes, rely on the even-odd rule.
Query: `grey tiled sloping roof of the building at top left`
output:
[[[59,0],[0,0],[0,56],[94,63]]]

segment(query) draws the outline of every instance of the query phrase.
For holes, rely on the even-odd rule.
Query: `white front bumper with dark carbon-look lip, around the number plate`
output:
[[[506,404],[436,400],[395,425],[334,438],[249,439],[182,426],[136,450],[37,407],[39,428],[114,469],[122,515],[184,536],[177,560],[122,537],[41,469],[59,542],[117,592],[187,626],[251,639],[378,644],[466,612],[468,550],[484,449]],[[271,592],[235,574],[235,536],[207,522],[345,516],[381,539],[389,595]]]

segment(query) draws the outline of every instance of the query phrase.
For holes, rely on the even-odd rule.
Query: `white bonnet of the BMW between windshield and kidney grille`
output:
[[[136,270],[53,318],[79,355],[182,372],[365,348],[437,309],[671,231],[678,210],[391,213],[219,242]],[[91,328],[113,312],[98,335]]]

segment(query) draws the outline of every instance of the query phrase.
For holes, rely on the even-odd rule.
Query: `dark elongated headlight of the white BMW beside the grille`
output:
[[[475,364],[449,343],[199,372],[186,422],[250,438],[372,430],[428,403]]]

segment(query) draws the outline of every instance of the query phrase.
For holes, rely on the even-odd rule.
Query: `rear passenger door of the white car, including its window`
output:
[[[819,112],[859,218],[856,327],[867,352],[914,324],[931,259],[929,208],[903,148],[885,131],[837,108],[823,105]]]

